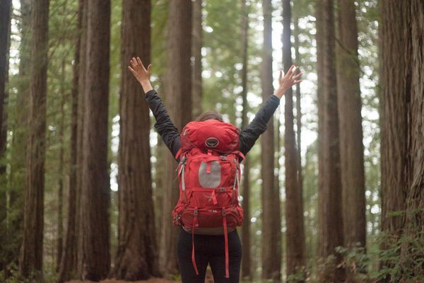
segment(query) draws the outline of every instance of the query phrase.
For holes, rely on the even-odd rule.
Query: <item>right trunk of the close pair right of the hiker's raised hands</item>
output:
[[[365,247],[365,173],[358,29],[353,0],[338,0],[337,95],[344,246]]]

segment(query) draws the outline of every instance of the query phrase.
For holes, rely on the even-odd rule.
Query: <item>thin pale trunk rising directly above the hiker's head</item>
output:
[[[193,64],[193,117],[197,117],[202,112],[202,79],[201,79],[201,47],[203,45],[202,23],[202,0],[193,1],[193,37],[192,37],[192,56]]]

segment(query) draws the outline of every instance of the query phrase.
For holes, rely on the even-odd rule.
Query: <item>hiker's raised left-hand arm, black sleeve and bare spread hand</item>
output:
[[[143,63],[139,57],[132,58],[130,61],[131,67],[128,69],[136,77],[137,81],[143,87],[144,93],[146,93],[146,101],[148,107],[152,110],[153,116],[155,117],[155,129],[162,137],[168,149],[170,149],[172,156],[175,157],[177,151],[181,147],[179,141],[179,132],[172,122],[170,115],[168,115],[165,105],[158,96],[155,90],[153,90],[150,83],[151,75],[151,64],[148,65],[147,69],[144,68]]]

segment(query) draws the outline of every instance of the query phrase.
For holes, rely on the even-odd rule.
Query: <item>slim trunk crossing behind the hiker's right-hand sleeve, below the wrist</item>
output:
[[[264,49],[261,69],[262,100],[266,100],[273,93],[272,76],[272,23],[271,0],[264,0]],[[278,253],[281,243],[281,231],[278,225],[281,222],[279,211],[280,198],[274,186],[274,139],[273,119],[267,124],[267,130],[261,136],[261,177],[262,177],[262,278],[281,281],[281,253]]]

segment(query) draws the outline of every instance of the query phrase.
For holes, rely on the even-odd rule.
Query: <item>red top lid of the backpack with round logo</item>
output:
[[[211,149],[228,154],[239,149],[240,130],[234,125],[209,119],[201,122],[189,122],[180,134],[182,151],[193,148]]]

